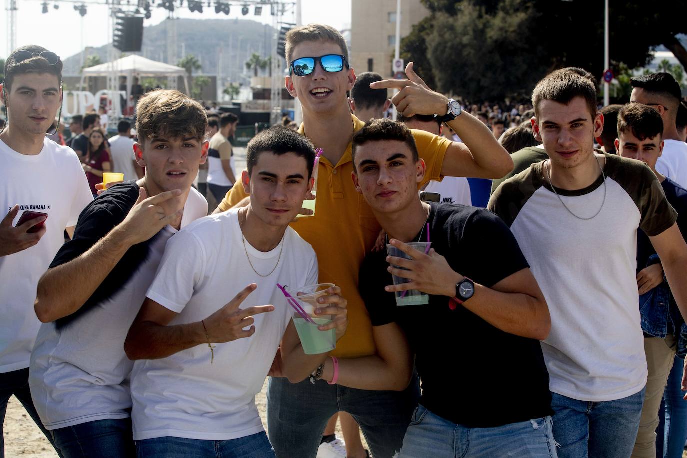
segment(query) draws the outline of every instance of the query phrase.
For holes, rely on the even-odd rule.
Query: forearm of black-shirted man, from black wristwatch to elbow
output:
[[[508,334],[543,341],[551,330],[551,317],[543,297],[502,293],[475,283],[475,294],[462,306]]]

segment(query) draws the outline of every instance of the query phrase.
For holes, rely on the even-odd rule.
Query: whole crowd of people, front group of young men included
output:
[[[238,117],[178,91],[140,98],[136,141],[120,122],[108,150],[93,114],[57,144],[60,58],[10,55],[1,411],[16,396],[67,458],[314,458],[339,415],[349,457],[682,456],[679,84],[635,78],[600,110],[559,69],[490,112],[412,63],[356,76],[347,49],[327,25],[286,35],[303,123],[251,139],[240,174]],[[117,167],[136,179],[101,183]],[[323,332],[335,349],[306,351]]]

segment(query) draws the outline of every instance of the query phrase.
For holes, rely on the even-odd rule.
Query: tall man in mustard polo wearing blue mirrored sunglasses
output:
[[[358,291],[358,275],[381,226],[350,180],[351,140],[363,128],[348,105],[347,91],[354,85],[355,72],[348,65],[346,41],[328,25],[291,30],[286,36],[286,58],[291,67],[286,89],[303,108],[300,133],[324,149],[319,160],[315,216],[299,218],[291,227],[315,249],[319,281],[341,286],[348,299],[352,325],[332,355],[370,356],[376,349],[370,317]],[[393,102],[403,115],[438,115],[465,141],[457,144],[413,131],[420,157],[429,170],[420,185],[444,175],[494,178],[510,171],[510,156],[484,124],[462,113],[458,102],[431,91],[413,71],[412,64],[406,72],[407,80],[375,82],[370,87],[400,89]],[[242,187],[234,186],[218,211],[239,204],[245,196]],[[281,458],[315,457],[330,417],[346,411],[359,422],[372,455],[392,457],[401,448],[418,397],[417,382],[405,391],[394,392],[349,389],[322,380],[292,385],[283,378],[271,378],[267,401],[269,437]]]

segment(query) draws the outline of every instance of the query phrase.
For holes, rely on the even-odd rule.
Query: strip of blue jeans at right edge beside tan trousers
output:
[[[683,399],[682,372],[685,361],[675,356],[673,370],[668,376],[668,386],[664,394],[666,401],[666,426],[664,433],[663,453],[658,456],[682,458],[687,440],[687,401]]]

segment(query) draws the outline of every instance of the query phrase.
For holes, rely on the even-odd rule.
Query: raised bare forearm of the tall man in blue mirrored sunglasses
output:
[[[447,124],[469,148],[480,175],[474,178],[503,178],[513,170],[510,154],[479,119],[463,112]]]

